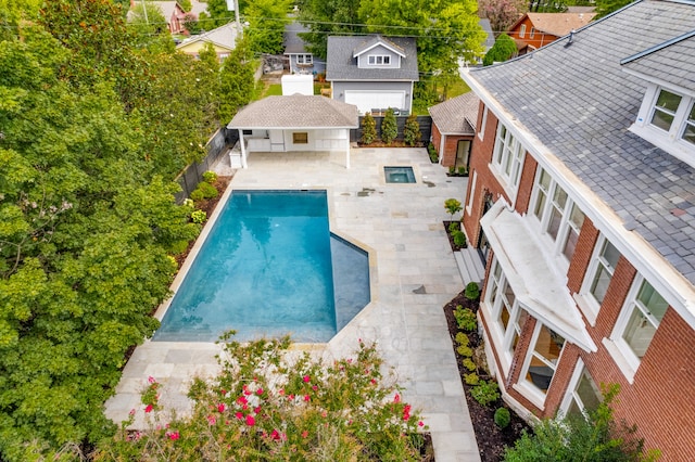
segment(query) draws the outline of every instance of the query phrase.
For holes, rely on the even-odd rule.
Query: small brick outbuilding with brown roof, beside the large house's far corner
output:
[[[430,107],[432,144],[444,167],[468,167],[480,100],[472,91]]]

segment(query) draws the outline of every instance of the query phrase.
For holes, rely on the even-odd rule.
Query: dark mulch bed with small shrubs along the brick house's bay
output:
[[[469,300],[464,296],[464,292],[462,292],[444,306],[444,315],[446,316],[446,324],[452,338],[454,355],[456,355],[458,373],[460,374],[462,384],[466,393],[466,402],[468,403],[468,412],[470,413],[470,419],[473,424],[480,459],[482,462],[497,462],[502,460],[505,447],[514,446],[514,442],[521,437],[521,432],[523,429],[531,432],[531,428],[521,418],[509,409],[502,399],[489,405],[489,407],[483,407],[470,395],[471,386],[464,381],[464,374],[468,374],[468,370],[462,364],[464,357],[456,351],[457,344],[455,337],[458,332],[463,332],[459,331],[456,318],[454,318],[454,309],[456,309],[458,305],[462,305],[464,308],[470,308],[473,312],[477,312],[479,303],[477,300]],[[469,346],[475,351],[482,345],[482,338],[480,338],[477,332],[469,332],[467,334]],[[494,381],[491,376],[484,375],[482,371],[480,371],[479,376],[481,380]],[[509,409],[511,414],[511,422],[506,428],[500,428],[494,421],[495,410],[501,407]]]

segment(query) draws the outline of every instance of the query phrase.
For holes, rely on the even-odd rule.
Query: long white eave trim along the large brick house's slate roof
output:
[[[654,246],[635,232],[628,231],[623,219],[590,189],[567,165],[542,144],[513,114],[510,114],[479,84],[470,69],[462,69],[462,77],[478,98],[519,138],[529,155],[551,172],[580,205],[593,222],[620,253],[661,294],[669,305],[695,329],[695,286],[678,271]]]

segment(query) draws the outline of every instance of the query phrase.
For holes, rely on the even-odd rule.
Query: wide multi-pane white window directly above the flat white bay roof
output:
[[[561,255],[567,266],[577,249],[584,214],[563,187],[541,167],[533,185],[532,204],[533,215],[541,223],[541,232],[554,242],[553,254]]]

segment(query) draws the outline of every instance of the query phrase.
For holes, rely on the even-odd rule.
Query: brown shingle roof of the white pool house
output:
[[[239,111],[227,128],[357,128],[357,106],[318,95],[267,97]]]

